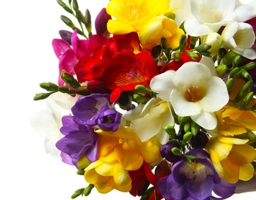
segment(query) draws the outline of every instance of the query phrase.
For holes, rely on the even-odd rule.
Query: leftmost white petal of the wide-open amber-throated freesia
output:
[[[170,92],[175,87],[173,85],[174,73],[174,71],[164,72],[153,77],[150,82],[153,92],[158,92],[158,96],[167,102],[170,102]]]

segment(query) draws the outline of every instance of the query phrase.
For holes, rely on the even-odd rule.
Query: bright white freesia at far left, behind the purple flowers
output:
[[[35,112],[30,119],[32,128],[45,138],[45,151],[58,158],[60,151],[56,142],[62,138],[59,128],[62,126],[62,116],[69,115],[72,105],[77,98],[60,92],[45,99],[46,108]]]

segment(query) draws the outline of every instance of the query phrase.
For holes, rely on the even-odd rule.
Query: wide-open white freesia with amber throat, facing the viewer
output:
[[[217,126],[214,112],[227,104],[229,95],[224,81],[213,75],[213,65],[203,64],[209,59],[187,62],[177,72],[157,75],[151,80],[150,88],[169,101],[177,115],[190,116],[201,127],[213,130]]]

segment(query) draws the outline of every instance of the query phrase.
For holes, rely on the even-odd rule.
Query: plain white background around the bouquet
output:
[[[64,2],[68,2],[67,0]],[[82,11],[89,8],[92,21],[108,0],[80,0]],[[45,153],[43,138],[35,133],[29,120],[45,102],[34,102],[35,93],[42,92],[40,82],[55,82],[58,59],[52,50],[52,39],[59,38],[60,29],[68,27],[60,15],[70,16],[55,0],[3,1],[0,12],[0,199],[69,200],[78,188],[86,187],[76,168]],[[256,190],[256,182],[251,182]],[[250,188],[242,188],[244,191]],[[238,188],[237,192],[241,191]],[[234,195],[230,199],[254,199],[256,192]],[[110,192],[89,197],[136,199],[129,193]]]

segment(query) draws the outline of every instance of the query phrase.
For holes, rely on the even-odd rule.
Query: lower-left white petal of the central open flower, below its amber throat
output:
[[[174,112],[180,117],[197,115],[202,109],[198,102],[187,102],[184,95],[177,89],[173,89],[170,94],[170,103],[173,105]]]

